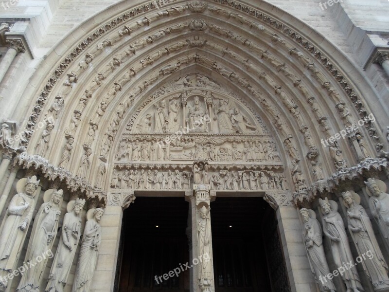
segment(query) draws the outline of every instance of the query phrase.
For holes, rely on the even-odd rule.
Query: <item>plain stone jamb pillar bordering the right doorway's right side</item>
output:
[[[290,201],[291,196],[286,192],[266,192],[264,199],[276,210],[286,273],[291,291],[319,291],[302,240],[299,213]]]

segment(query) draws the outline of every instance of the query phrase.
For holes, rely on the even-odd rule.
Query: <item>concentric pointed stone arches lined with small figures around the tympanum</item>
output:
[[[270,11],[270,5],[263,5],[263,11]],[[354,103],[354,119],[366,116],[369,110],[347,80],[348,74],[302,35],[283,21],[237,1],[220,0],[209,5],[176,1],[162,7],[149,3],[128,10],[86,37],[59,63],[27,122],[27,138],[41,112],[49,110],[55,96],[63,96],[65,108],[55,121],[52,145],[64,145],[64,130],[70,127],[74,110],[81,113],[75,131],[78,149],[85,142],[93,117],[99,119],[94,143],[101,142],[107,128],[120,132],[123,120],[163,84],[182,74],[200,72],[245,98],[267,125],[275,124],[271,131],[279,145],[285,138],[294,137],[300,149],[305,147],[303,156],[310,148],[309,141],[299,137],[304,125],[314,136],[315,146],[321,147],[320,119],[310,121],[318,109],[328,117],[340,102],[349,109]],[[308,105],[311,97],[316,103]],[[105,112],[102,103],[108,106]],[[344,127],[340,118],[331,119],[330,124],[335,131]],[[376,137],[374,125],[368,127],[369,134]],[[33,136],[29,152],[34,151],[40,133]],[[325,131],[324,135],[328,138],[332,133]],[[98,151],[97,146],[93,151]],[[52,151],[48,158],[55,162],[58,155]],[[72,160],[76,162],[78,157],[73,155]],[[332,173],[333,165],[327,160],[325,163],[327,172]]]

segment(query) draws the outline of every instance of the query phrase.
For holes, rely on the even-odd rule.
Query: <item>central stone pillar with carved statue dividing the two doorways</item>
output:
[[[192,215],[192,258],[191,292],[214,292],[213,254],[210,203],[213,192],[206,185],[195,185],[195,196],[192,191],[185,193],[190,202]],[[207,260],[208,259],[208,260]]]

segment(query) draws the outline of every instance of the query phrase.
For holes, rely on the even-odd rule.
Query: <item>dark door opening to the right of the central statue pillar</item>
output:
[[[216,292],[289,291],[276,214],[268,203],[217,198],[211,222]]]

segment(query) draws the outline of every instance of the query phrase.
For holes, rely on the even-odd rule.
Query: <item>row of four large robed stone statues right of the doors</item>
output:
[[[366,190],[371,196],[369,200],[371,214],[376,219],[380,232],[384,237],[386,248],[388,248],[389,194],[385,193],[386,186],[382,181],[369,179],[366,185]],[[331,242],[331,253],[335,266],[338,267],[339,277],[343,280],[348,292],[364,291],[355,267],[355,261],[362,262],[361,265],[368,275],[374,291],[388,291],[388,265],[374,235],[369,216],[364,207],[360,205],[359,195],[354,191],[346,191],[342,193],[342,197],[347,209],[348,229],[359,259],[352,255],[343,219],[337,212],[337,203],[327,198],[325,200],[319,199],[322,213],[322,230],[327,240]],[[316,219],[316,213],[306,208],[302,208],[300,213],[303,219],[303,237],[306,251],[320,291],[335,292],[336,288],[332,277],[328,277],[331,272],[326,261],[321,227]],[[348,265],[347,263],[352,264]],[[335,273],[334,276],[336,276]]]

